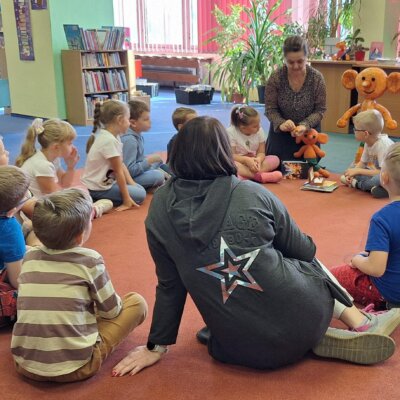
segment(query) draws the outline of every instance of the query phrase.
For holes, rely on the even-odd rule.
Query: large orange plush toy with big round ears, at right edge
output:
[[[344,128],[349,119],[359,111],[376,109],[381,114],[388,129],[396,129],[397,122],[392,119],[386,107],[378,104],[376,99],[381,97],[386,90],[392,93],[400,91],[400,73],[392,72],[386,75],[385,71],[378,67],[369,67],[357,72],[353,69],[344,71],[342,85],[349,90],[356,89],[364,100],[349,108],[337,121],[339,128]]]

